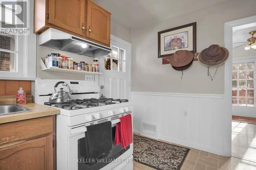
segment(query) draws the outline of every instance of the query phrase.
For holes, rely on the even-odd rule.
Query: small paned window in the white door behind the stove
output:
[[[111,45],[112,53],[104,57],[106,70],[125,72],[125,50]]]

